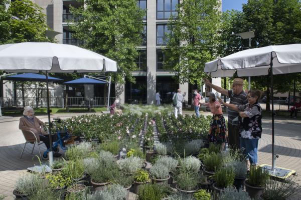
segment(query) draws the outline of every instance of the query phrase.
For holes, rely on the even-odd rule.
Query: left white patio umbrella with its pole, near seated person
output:
[[[74,45],[50,42],[23,42],[0,45],[0,70],[8,72],[46,72],[48,121],[49,72],[117,71],[117,63],[103,55]],[[51,131],[49,161],[52,163]]]

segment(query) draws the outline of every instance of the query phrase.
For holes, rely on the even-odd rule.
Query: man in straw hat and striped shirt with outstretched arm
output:
[[[204,79],[205,84],[212,87],[216,91],[229,96],[231,104],[246,104],[247,93],[243,91],[243,79],[234,78],[232,83],[232,90],[227,90],[217,85],[212,84],[209,80]],[[229,146],[231,148],[240,148],[239,145],[239,113],[235,110],[228,108],[228,138],[229,138]]]

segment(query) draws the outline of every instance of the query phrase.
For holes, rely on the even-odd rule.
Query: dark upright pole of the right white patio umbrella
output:
[[[275,143],[275,132],[274,132],[274,91],[273,91],[273,54],[271,52],[271,61],[270,61],[270,73],[271,73],[271,97],[272,97],[272,171],[275,169],[276,157],[274,152],[274,143]]]

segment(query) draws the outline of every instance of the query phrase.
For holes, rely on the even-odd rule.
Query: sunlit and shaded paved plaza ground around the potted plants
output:
[[[184,114],[193,114],[193,111],[184,111]],[[72,115],[85,113],[65,113],[54,114],[54,117],[66,118]],[[211,114],[202,112],[202,114]],[[226,114],[225,114],[226,115]],[[47,121],[47,115],[38,116],[41,120]],[[23,158],[20,159],[20,153],[24,146],[25,139],[19,130],[20,117],[4,117],[0,119],[0,194],[7,195],[6,199],[14,199],[13,190],[16,179],[26,172],[26,168],[39,164],[36,158],[31,154],[32,144],[27,144]],[[263,118],[263,134],[259,140],[258,157],[259,164],[271,164],[271,119]],[[45,149],[45,145],[41,145]],[[279,155],[276,165],[283,168],[301,171],[301,120],[290,118],[279,118],[275,120],[275,152]],[[35,148],[38,153],[38,148]],[[297,182],[301,184],[300,178]],[[299,199],[301,191],[292,199]],[[130,194],[130,199],[134,199],[134,194]]]

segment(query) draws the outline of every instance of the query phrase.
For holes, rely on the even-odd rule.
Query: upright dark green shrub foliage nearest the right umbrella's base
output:
[[[267,169],[257,167],[257,166],[250,167],[247,184],[256,187],[265,187],[268,179],[269,179],[269,174]]]

